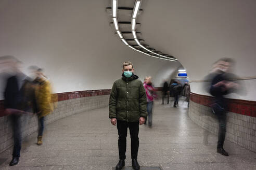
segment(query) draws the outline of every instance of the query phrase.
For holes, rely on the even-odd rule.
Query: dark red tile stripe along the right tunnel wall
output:
[[[190,93],[190,100],[200,105],[208,106],[213,103],[214,97]],[[256,117],[256,102],[227,98],[228,111],[236,114]]]

